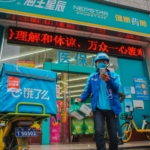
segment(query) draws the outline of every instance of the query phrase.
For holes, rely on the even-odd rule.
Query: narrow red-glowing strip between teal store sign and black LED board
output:
[[[149,41],[147,37],[143,37],[140,35],[133,35],[129,33],[106,30],[102,28],[95,28],[93,26],[89,27],[89,26],[83,26],[83,25],[77,25],[77,24],[71,24],[71,23],[64,23],[60,21],[58,22],[58,21],[52,21],[52,20],[46,20],[46,19],[39,19],[39,18],[34,18],[34,17],[5,14],[5,15],[0,15],[0,19],[7,19],[11,21],[13,20],[16,22],[16,24],[17,22],[26,22],[26,23],[32,23],[32,24],[39,24],[39,25],[43,25],[47,27],[55,27],[55,28],[59,27],[59,28],[64,28],[64,29],[92,32],[96,34],[110,35],[110,36],[116,36],[116,37],[127,38],[127,39]]]

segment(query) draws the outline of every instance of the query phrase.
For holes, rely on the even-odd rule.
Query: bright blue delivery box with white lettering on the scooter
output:
[[[3,64],[0,72],[0,113],[56,114],[56,77],[52,71]],[[37,105],[30,105],[37,104]],[[26,105],[28,104],[28,105]]]

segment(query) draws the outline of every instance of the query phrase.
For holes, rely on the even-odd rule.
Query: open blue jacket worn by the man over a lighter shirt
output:
[[[107,96],[114,114],[119,114],[122,111],[118,95],[120,88],[120,77],[118,74],[110,72],[108,69],[107,74],[110,77],[110,81],[106,82]],[[99,101],[100,82],[100,73],[97,70],[96,72],[89,75],[84,92],[80,96],[81,100],[85,101],[92,94],[92,111],[96,110],[97,102]]]

